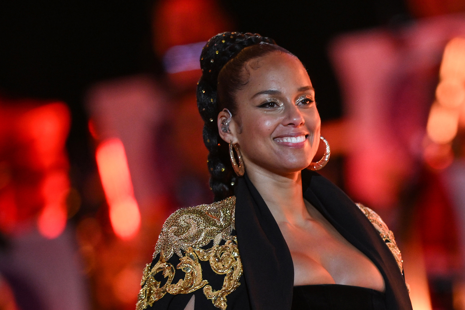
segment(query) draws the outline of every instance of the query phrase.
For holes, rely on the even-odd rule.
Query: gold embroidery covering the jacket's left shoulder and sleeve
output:
[[[236,198],[202,204],[195,207],[179,209],[163,224],[159,239],[155,246],[153,259],[159,255],[156,264],[147,264],[142,276],[136,310],[146,309],[166,293],[188,294],[203,287],[207,299],[211,299],[217,308],[226,309],[226,296],[240,285],[242,263],[237,248],[234,230],[234,211]],[[223,245],[221,241],[225,240]],[[209,249],[202,249],[213,241]],[[175,267],[168,260],[176,254],[179,264],[176,270],[185,273],[184,279],[172,283]],[[211,269],[219,275],[225,275],[221,290],[213,290],[208,280],[202,277],[200,261],[208,261]],[[167,278],[161,282],[155,275],[161,273]]]

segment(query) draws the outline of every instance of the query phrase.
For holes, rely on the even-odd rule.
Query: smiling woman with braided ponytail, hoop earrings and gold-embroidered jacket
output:
[[[320,118],[299,59],[258,34],[220,33],[200,64],[216,202],[166,220],[137,309],[412,309],[392,232],[306,170],[329,146],[311,162]]]

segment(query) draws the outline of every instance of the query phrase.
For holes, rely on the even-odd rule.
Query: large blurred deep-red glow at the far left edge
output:
[[[42,236],[58,237],[67,220],[68,107],[34,99],[4,102],[0,98],[0,230],[20,233],[37,218]]]

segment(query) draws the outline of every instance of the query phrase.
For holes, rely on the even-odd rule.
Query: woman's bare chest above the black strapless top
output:
[[[361,251],[325,219],[279,224],[294,264],[294,285],[345,284],[384,290],[384,279]]]

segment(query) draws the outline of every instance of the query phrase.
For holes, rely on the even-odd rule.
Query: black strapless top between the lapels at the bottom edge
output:
[[[386,310],[378,290],[340,284],[294,286],[291,310]]]

